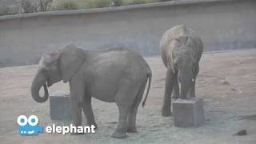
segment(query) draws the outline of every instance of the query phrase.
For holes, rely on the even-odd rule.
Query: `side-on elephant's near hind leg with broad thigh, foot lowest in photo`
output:
[[[130,107],[134,103],[134,99],[138,93],[139,86],[137,82],[131,82],[129,79],[122,79],[119,82],[118,92],[115,96],[115,102],[119,110],[118,126],[112,137],[126,138],[127,137],[127,117],[130,112]]]

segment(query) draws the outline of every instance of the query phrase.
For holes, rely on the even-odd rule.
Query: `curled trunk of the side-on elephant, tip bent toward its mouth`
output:
[[[46,102],[46,100],[49,97],[47,86],[46,86],[46,80],[47,80],[46,76],[44,76],[40,72],[38,72],[34,77],[34,80],[31,86],[31,94],[36,102]],[[44,88],[43,97],[41,97],[39,94],[39,90],[41,89],[42,86]]]

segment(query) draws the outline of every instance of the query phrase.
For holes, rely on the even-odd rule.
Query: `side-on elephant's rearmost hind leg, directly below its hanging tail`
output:
[[[137,111],[138,111],[138,106],[139,106],[140,102],[142,101],[142,97],[143,97],[145,88],[146,88],[146,82],[143,82],[142,86],[138,90],[138,94],[137,94],[137,96],[134,100],[133,105],[130,107],[130,112],[129,112],[129,115],[128,115],[128,129],[127,129],[127,132],[130,132],[130,133],[136,133],[137,132],[137,129],[136,129],[136,115],[137,115]]]

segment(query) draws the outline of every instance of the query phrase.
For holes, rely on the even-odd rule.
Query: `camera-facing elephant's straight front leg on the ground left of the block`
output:
[[[166,72],[166,89],[165,95],[162,104],[162,116],[171,115],[170,106],[171,106],[171,94],[174,87],[174,73],[170,67],[168,67]]]

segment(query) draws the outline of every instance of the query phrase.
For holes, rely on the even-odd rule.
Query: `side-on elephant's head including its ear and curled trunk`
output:
[[[61,80],[65,83],[70,81],[83,62],[84,50],[73,45],[66,46],[63,50],[43,54],[38,62],[38,71],[31,85],[31,94],[34,100],[46,102],[49,96],[47,86]],[[39,95],[42,86],[45,92],[43,97]]]

